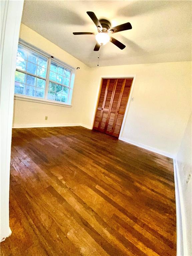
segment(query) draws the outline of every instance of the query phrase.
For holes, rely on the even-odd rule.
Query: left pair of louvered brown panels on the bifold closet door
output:
[[[116,79],[102,79],[93,129],[105,132]]]

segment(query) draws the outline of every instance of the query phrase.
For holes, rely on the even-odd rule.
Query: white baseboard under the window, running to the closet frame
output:
[[[81,123],[73,123],[73,124],[15,124],[13,125],[13,129],[16,128],[40,128],[40,127],[66,127],[66,126],[82,126],[87,129],[92,129],[89,125],[84,125]]]

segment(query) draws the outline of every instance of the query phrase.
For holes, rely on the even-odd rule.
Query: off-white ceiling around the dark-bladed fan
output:
[[[191,60],[191,1],[25,1],[22,23],[89,67]],[[130,22],[131,30],[114,34],[126,45],[109,42],[94,52],[97,32],[86,14],[112,26]]]

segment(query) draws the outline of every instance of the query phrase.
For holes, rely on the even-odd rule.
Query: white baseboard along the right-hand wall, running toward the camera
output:
[[[174,167],[174,181],[175,181],[175,200],[176,200],[176,220],[177,220],[177,256],[184,255],[183,243],[183,222],[182,222],[182,200],[180,180],[178,175],[178,165],[176,159],[173,160]]]

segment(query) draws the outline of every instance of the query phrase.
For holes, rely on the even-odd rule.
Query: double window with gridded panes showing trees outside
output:
[[[18,45],[15,94],[70,104],[72,70],[51,57]]]

